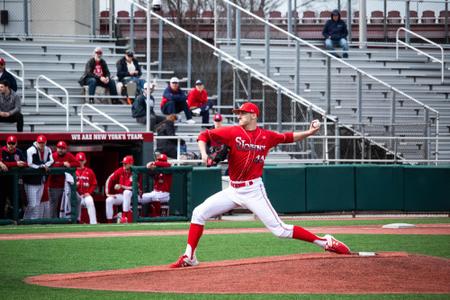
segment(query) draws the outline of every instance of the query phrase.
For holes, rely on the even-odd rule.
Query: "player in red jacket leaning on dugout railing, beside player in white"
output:
[[[75,159],[72,153],[67,152],[67,143],[59,141],[56,144],[56,151],[52,153],[53,165],[56,168],[76,168],[80,163]],[[50,198],[50,218],[57,218],[59,203],[64,192],[65,176],[51,175],[48,179],[49,198]]]

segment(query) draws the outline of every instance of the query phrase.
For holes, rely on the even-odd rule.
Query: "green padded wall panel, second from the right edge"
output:
[[[357,210],[403,210],[403,167],[355,166]]]

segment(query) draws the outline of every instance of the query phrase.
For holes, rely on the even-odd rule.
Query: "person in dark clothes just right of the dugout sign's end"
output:
[[[156,127],[156,134],[158,136],[175,136],[175,121],[177,116],[172,114],[166,117]],[[180,141],[180,145],[185,144],[184,140]],[[164,153],[171,158],[177,158],[177,139],[160,139],[156,140],[156,152]]]

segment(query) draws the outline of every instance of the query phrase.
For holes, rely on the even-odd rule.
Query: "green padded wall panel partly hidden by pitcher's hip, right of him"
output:
[[[306,171],[304,166],[264,168],[264,185],[267,196],[279,213],[306,211]]]

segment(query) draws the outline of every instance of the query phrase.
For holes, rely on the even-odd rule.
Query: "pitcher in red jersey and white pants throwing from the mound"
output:
[[[285,224],[272,207],[261,180],[264,161],[272,147],[301,141],[315,134],[320,126],[314,126],[313,121],[309,130],[301,132],[278,133],[263,129],[257,124],[259,108],[251,102],[242,104],[233,110],[233,113],[237,114],[239,125],[206,130],[198,137],[198,145],[205,164],[208,158],[206,144],[211,140],[217,140],[230,148],[228,154],[230,186],[210,196],[194,209],[186,251],[170,266],[181,268],[198,265],[196,249],[206,220],[239,206],[253,212],[277,237],[303,240],[314,243],[325,251],[350,254],[350,249],[331,235],[319,237],[300,226]]]

